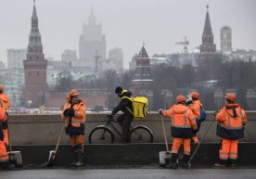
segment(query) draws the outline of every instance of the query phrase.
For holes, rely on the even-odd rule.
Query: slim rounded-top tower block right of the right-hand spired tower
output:
[[[223,53],[232,52],[232,32],[228,26],[224,26],[221,29],[221,50]]]

